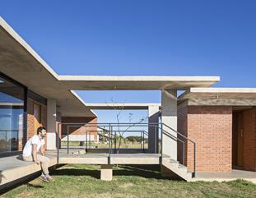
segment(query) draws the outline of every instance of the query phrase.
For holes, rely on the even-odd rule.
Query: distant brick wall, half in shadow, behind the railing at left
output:
[[[63,124],[62,125],[62,135],[67,135],[67,126],[69,126],[69,135],[86,135],[86,133],[89,135],[93,135],[94,139],[97,139],[97,117],[62,117],[63,123],[71,123]],[[71,127],[72,123],[83,123],[83,124],[89,124],[86,127]],[[91,126],[90,126],[91,124]],[[79,125],[79,124],[78,124]]]

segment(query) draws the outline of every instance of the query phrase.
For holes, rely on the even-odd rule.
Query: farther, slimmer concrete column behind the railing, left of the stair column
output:
[[[159,122],[159,106],[151,105],[148,106],[148,123]],[[148,126],[148,153],[157,154],[158,153],[158,128],[152,125]]]

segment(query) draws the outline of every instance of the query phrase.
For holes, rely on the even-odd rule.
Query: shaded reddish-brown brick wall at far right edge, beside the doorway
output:
[[[256,108],[244,110],[243,168],[256,171]]]

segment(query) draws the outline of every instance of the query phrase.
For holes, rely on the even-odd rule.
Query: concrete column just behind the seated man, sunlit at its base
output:
[[[56,150],[56,100],[47,99],[47,150]]]

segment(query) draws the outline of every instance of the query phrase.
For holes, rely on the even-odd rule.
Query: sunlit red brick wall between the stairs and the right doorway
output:
[[[197,144],[197,170],[230,171],[232,107],[179,104],[178,115],[179,132],[187,134]],[[193,144],[188,143],[185,150],[185,165],[193,170]]]

